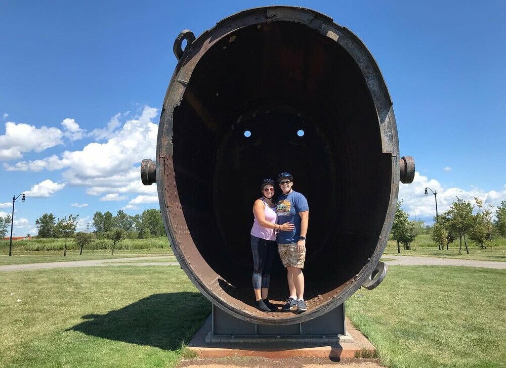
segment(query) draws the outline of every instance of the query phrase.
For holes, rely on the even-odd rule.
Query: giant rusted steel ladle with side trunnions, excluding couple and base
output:
[[[255,323],[304,322],[342,304],[375,273],[399,180],[414,175],[376,62],[348,29],[292,7],[247,10],[196,39],[183,31],[174,51],[156,163],[141,173],[158,184],[182,268],[215,305]],[[251,208],[260,181],[279,171],[310,205],[299,315],[252,306]],[[287,296],[278,262],[270,297]]]

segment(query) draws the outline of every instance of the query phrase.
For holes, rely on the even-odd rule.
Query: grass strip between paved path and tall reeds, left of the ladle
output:
[[[14,253],[10,257],[7,254],[0,255],[0,265],[84,261],[88,259],[114,259],[114,258],[168,256],[168,255],[174,256],[174,253],[172,252],[171,248],[143,249],[143,250],[114,250],[113,256],[111,256],[110,250],[96,250],[93,253],[91,250],[86,250],[83,251],[81,255],[79,255],[78,250],[68,250],[66,257],[63,256],[63,251],[23,251]],[[166,261],[166,258],[164,260]]]

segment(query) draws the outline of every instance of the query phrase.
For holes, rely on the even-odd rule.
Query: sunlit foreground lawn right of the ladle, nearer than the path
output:
[[[505,281],[506,270],[391,266],[346,313],[388,367],[506,367]]]

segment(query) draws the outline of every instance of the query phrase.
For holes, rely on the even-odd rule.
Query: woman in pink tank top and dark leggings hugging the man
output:
[[[274,197],[274,185],[272,179],[264,179],[260,185],[263,196],[255,201],[253,213],[255,219],[251,227],[251,251],[253,253],[253,290],[257,308],[270,312],[277,307],[267,298],[271,279],[272,261],[277,253],[276,233],[279,231],[292,231],[294,225],[286,222],[276,224],[276,203]]]

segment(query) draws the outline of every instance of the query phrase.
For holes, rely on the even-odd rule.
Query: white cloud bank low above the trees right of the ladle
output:
[[[427,176],[420,175],[415,172],[414,180],[411,184],[400,183],[399,201],[402,202],[402,208],[410,215],[416,213],[416,217],[432,218],[436,216],[436,203],[434,195],[428,191],[426,196],[425,188],[431,188],[437,194],[438,213],[442,214],[447,211],[451,204],[455,201],[455,197],[465,201],[475,203],[474,198],[482,199],[486,205],[492,204],[497,207],[501,201],[506,199],[506,185],[501,191],[485,192],[478,188],[471,190],[463,190],[460,188],[443,188],[436,179],[429,179]],[[428,221],[431,222],[431,221]]]

